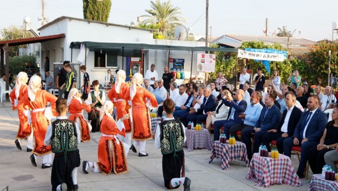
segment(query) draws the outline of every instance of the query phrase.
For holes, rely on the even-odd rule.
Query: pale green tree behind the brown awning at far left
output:
[[[2,41],[33,37],[33,35],[30,32],[24,31],[22,28],[14,25],[10,25],[9,27],[3,28],[1,30],[1,36]],[[9,56],[19,55],[19,48],[24,48],[25,46],[26,45],[9,47],[8,55]]]

